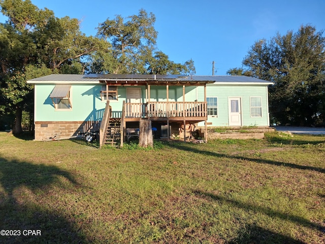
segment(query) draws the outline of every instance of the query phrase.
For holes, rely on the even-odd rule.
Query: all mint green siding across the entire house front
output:
[[[50,94],[55,84],[35,84],[35,121],[101,121],[106,101],[102,101],[101,84],[72,84],[70,97],[72,109],[55,110]],[[141,102],[146,103],[145,86],[118,86],[118,100],[110,101],[112,116],[120,117],[123,101],[126,102],[127,88],[141,88]],[[229,126],[229,98],[241,99],[242,126],[268,126],[268,90],[266,85],[207,85],[207,97],[217,98],[217,115],[208,115],[209,126]],[[262,116],[252,117],[250,98],[262,101]],[[185,102],[204,101],[203,86],[185,86]],[[165,85],[150,86],[151,102],[167,102]],[[169,101],[183,101],[183,87],[169,86]],[[204,126],[204,122],[199,126]]]

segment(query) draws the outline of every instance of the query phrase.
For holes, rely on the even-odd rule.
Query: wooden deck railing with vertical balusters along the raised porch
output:
[[[206,102],[125,103],[126,118],[206,117]]]

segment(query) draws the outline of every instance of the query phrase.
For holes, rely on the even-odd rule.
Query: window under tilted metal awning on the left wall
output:
[[[71,85],[56,85],[54,87],[50,98],[55,109],[72,109],[70,89]]]

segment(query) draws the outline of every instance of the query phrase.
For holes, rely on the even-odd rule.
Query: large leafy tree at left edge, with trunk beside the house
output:
[[[13,133],[19,134],[22,110],[32,104],[32,85],[26,79],[50,73],[82,73],[86,57],[109,43],[80,32],[79,21],[56,18],[30,0],[3,0],[1,12],[8,17],[0,24],[0,111],[15,110]]]

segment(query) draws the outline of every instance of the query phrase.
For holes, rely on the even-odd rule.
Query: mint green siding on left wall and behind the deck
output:
[[[71,110],[55,110],[50,94],[55,84],[35,85],[35,121],[101,121],[106,101],[102,101],[101,84],[72,84],[70,90]],[[141,88],[141,102],[146,102],[145,86],[118,86],[118,100],[110,101],[112,116],[120,117],[123,101],[126,102],[127,88]],[[196,87],[185,87],[185,101],[194,101]],[[166,86],[151,86],[150,101],[166,102]],[[169,101],[183,101],[182,86],[169,87]]]

